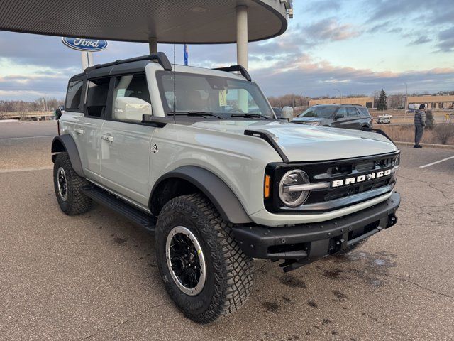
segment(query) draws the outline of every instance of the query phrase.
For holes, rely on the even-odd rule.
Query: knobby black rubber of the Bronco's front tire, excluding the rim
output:
[[[196,296],[189,296],[177,287],[167,266],[166,240],[177,226],[184,226],[194,234],[205,257],[206,282]],[[197,323],[210,323],[234,313],[252,291],[253,259],[233,239],[231,227],[201,194],[170,200],[158,217],[155,252],[162,281],[172,301]]]

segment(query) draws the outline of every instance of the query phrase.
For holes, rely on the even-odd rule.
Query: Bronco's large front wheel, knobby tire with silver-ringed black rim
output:
[[[167,293],[197,323],[235,312],[252,291],[253,259],[203,195],[167,202],[157,220],[155,252]]]

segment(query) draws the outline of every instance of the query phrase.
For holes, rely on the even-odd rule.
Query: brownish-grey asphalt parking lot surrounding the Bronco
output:
[[[454,158],[435,162],[454,150],[402,146],[395,227],[288,274],[257,261],[245,307],[197,325],[167,297],[153,237],[104,207],[60,211],[56,132],[0,124],[0,339],[453,340]]]

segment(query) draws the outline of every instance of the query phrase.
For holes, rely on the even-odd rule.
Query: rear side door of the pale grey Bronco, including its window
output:
[[[87,178],[101,182],[101,128],[104,124],[104,114],[109,109],[107,97],[109,94],[109,77],[96,78],[87,81],[87,96],[84,104],[84,116],[79,117],[75,136],[79,150],[80,161]]]

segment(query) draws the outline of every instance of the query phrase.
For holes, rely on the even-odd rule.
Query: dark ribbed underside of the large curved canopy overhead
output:
[[[1,0],[0,30],[158,43],[234,43],[236,6],[248,6],[248,40],[284,33],[280,0]]]

